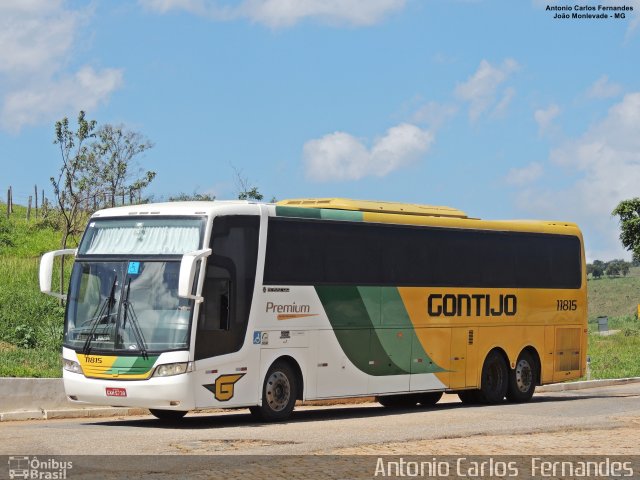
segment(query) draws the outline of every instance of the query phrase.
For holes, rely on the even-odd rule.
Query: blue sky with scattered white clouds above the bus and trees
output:
[[[598,5],[633,11],[554,18]],[[640,0],[1,0],[0,192],[50,196],[84,110],[153,142],[156,200],[236,198],[239,171],[266,199],[577,222],[587,260],[629,259],[639,23]]]

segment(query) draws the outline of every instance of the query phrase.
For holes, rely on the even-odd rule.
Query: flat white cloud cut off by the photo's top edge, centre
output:
[[[305,19],[329,24],[374,25],[401,10],[406,0],[243,0],[229,6],[216,0],[139,0],[150,10],[183,10],[214,20],[247,18],[272,28],[295,25]]]

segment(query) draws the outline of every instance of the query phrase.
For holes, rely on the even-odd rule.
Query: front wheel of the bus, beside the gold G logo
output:
[[[275,422],[291,415],[298,388],[296,374],[287,362],[271,365],[262,386],[262,405],[249,411],[261,420]]]

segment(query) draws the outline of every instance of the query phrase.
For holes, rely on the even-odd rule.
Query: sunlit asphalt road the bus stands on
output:
[[[490,453],[494,439],[542,435],[539,443],[544,446],[544,435],[572,432],[581,438],[600,432],[604,440],[594,440],[592,453],[609,454],[613,443],[608,442],[621,436],[616,431],[637,432],[639,426],[640,383],[633,383],[536,394],[527,404],[463,406],[457,396],[445,395],[430,409],[392,410],[378,404],[301,407],[289,421],[274,424],[256,423],[246,410],[192,414],[177,425],[150,416],[3,422],[0,455],[397,454],[397,445],[469,438],[474,439],[475,453]],[[483,438],[491,439],[486,452]],[[625,453],[640,454],[637,439],[626,441],[631,450]],[[385,450],[385,445],[395,445],[396,450]],[[521,453],[539,453],[535,444],[534,451],[527,448]],[[428,447],[423,453],[430,453]]]

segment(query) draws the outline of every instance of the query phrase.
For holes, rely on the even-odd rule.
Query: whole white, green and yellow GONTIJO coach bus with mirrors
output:
[[[524,402],[585,372],[572,223],[345,199],[165,203],[96,212],[77,250],[43,256],[52,295],[59,255],[75,255],[73,402],[277,420],[297,399]]]

